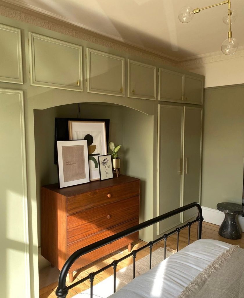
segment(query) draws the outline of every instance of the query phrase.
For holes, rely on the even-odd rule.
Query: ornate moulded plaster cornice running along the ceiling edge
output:
[[[231,56],[224,55],[222,52],[214,52],[193,56],[182,60],[171,58],[164,56],[161,53],[153,52],[150,49],[141,49],[135,44],[125,43],[120,40],[112,39],[109,36],[92,32],[75,24],[70,24],[68,21],[55,18],[54,16],[48,16],[46,15],[46,12],[42,12],[42,10],[38,10],[37,12],[34,10],[34,8],[32,8],[32,6],[27,4],[25,7],[20,5],[22,5],[22,2],[20,1],[11,0],[10,3],[5,0],[0,0],[0,15],[15,19],[17,21],[29,23],[37,27],[42,27],[65,35],[70,35],[72,37],[112,48],[120,52],[126,52],[131,55],[139,56],[141,58],[153,60],[166,65],[177,66],[182,69],[191,70],[203,67],[206,63],[229,60],[244,56],[244,47],[240,47],[238,51]]]

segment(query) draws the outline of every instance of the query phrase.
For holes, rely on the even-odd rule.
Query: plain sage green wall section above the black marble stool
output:
[[[202,206],[242,203],[244,85],[205,89]]]

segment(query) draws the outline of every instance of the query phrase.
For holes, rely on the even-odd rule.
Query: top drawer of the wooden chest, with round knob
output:
[[[139,195],[140,180],[67,197],[67,215]]]

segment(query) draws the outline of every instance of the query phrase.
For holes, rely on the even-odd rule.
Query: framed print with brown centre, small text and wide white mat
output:
[[[59,188],[90,182],[86,140],[58,141]]]

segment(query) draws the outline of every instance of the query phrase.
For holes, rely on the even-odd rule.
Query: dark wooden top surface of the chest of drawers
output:
[[[59,188],[58,183],[44,185],[42,187],[52,190],[56,193],[66,196],[66,197],[70,197],[73,195],[87,193],[87,192],[95,191],[95,190],[106,188],[106,187],[122,185],[125,183],[138,181],[138,180],[140,180],[140,179],[130,177],[130,176],[125,176],[125,175],[120,175],[118,178],[115,176],[113,179],[108,179],[108,180],[103,180],[103,181],[97,180],[97,181],[92,181],[92,182],[85,183],[85,184],[78,184],[75,186],[69,186],[69,187],[64,187],[64,188]]]

